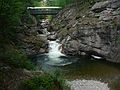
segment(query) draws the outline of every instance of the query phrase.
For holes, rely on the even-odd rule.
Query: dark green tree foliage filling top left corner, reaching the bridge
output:
[[[34,0],[0,0],[0,35],[11,39],[16,36],[16,27]],[[11,37],[11,38],[10,38]]]

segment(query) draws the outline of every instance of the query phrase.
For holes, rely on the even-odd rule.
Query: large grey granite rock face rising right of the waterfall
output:
[[[68,55],[97,55],[120,63],[120,0],[106,0],[92,7],[70,5],[52,22]]]

